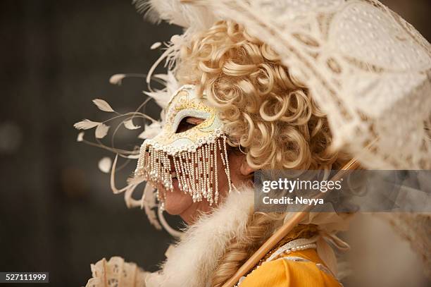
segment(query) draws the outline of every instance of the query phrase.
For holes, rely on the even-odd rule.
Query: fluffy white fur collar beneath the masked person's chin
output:
[[[253,205],[253,190],[230,193],[221,207],[189,227],[180,243],[169,251],[162,270],[148,276],[146,286],[208,286],[232,238],[244,236]]]

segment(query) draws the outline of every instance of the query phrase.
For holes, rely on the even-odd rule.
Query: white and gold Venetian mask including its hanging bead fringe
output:
[[[206,95],[198,97],[194,85],[180,87],[168,102],[165,125],[155,138],[145,140],[139,153],[135,176],[143,177],[155,187],[162,185],[173,191],[176,178],[182,192],[194,202],[218,202],[218,161],[221,160],[232,190],[227,161],[226,136],[218,112],[206,103]],[[186,118],[199,118],[201,123],[179,130]],[[219,156],[220,155],[220,156]],[[158,192],[162,206],[164,195]]]

